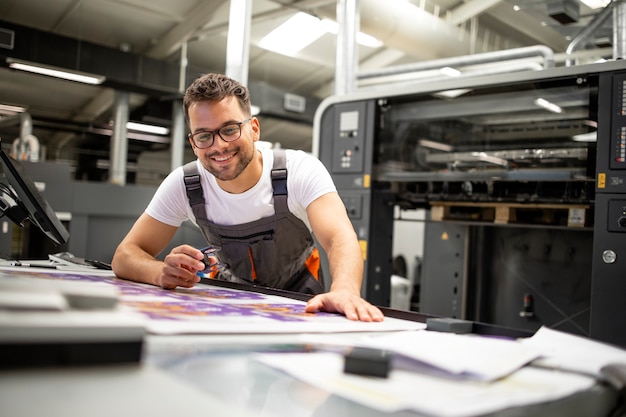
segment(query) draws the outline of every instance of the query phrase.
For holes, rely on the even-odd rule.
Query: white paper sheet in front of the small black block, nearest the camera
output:
[[[263,354],[256,359],[373,409],[415,410],[442,417],[475,416],[556,400],[594,384],[585,376],[529,367],[495,382],[442,378],[402,369],[393,369],[388,378],[365,377],[345,374],[343,356],[331,352]]]

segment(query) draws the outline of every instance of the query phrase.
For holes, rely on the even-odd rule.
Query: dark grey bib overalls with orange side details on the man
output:
[[[287,207],[284,150],[274,151],[274,215],[224,226],[207,219],[196,161],[184,166],[187,198],[204,238],[222,249],[215,254],[228,268],[216,279],[246,282],[307,294],[324,292],[319,252],[307,226]],[[245,210],[241,207],[241,210]]]

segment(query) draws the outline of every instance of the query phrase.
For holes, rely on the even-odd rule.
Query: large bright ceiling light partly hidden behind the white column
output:
[[[338,32],[337,22],[298,12],[261,39],[259,46],[279,54],[294,56],[325,34],[336,35]],[[370,48],[378,48],[383,44],[375,37],[363,32],[356,34],[356,41]]]

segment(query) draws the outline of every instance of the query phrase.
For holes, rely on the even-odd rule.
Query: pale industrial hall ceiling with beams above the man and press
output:
[[[578,1],[359,0],[361,31],[377,37],[383,46],[359,46],[357,72],[534,45],[553,50],[561,57],[557,65],[563,65],[571,40],[602,10]],[[516,4],[520,5],[517,11]],[[578,10],[575,21],[557,21],[572,15],[571,4]],[[331,0],[252,1],[248,85],[253,102],[261,108],[262,139],[311,150],[315,106],[336,91],[337,39],[324,35],[295,57],[265,50],[259,41],[298,11],[336,20],[336,9],[337,2]],[[560,14],[562,10],[565,15]],[[152,70],[157,79],[167,73],[173,82],[167,88],[165,83],[146,88],[145,84],[133,85],[132,80],[89,86],[30,75],[8,69],[6,58],[17,52],[0,47],[0,104],[27,108],[46,159],[102,163],[110,152],[110,136],[101,129],[110,126],[116,90],[130,91],[131,120],[169,125],[172,101],[180,99],[176,87],[181,45],[187,49],[185,85],[200,73],[227,71],[229,11],[230,2],[221,0],[3,0],[0,32],[11,25],[24,29],[18,34],[29,37],[30,48],[24,53],[32,60],[49,57],[54,62],[69,54],[72,62],[67,66],[83,70],[79,63],[92,53],[94,62],[115,73],[123,70],[126,57],[144,57],[139,61],[142,71]],[[594,52],[581,59],[606,57],[611,25],[612,19],[607,19],[598,27],[583,45]],[[78,45],[76,51],[68,52],[62,42],[53,42],[57,37],[72,39]],[[94,45],[100,49],[89,48]],[[356,84],[355,88],[365,87]],[[281,108],[285,93],[304,98],[306,112]],[[19,116],[0,116],[0,137],[7,146],[20,134]],[[167,153],[168,137],[156,142],[130,139],[129,165],[146,151]]]

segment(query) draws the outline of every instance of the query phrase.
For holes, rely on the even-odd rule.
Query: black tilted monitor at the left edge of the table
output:
[[[14,195],[11,197],[16,200],[15,203],[21,209],[20,212],[37,225],[54,243],[57,245],[66,243],[70,236],[69,232],[48,202],[41,196],[33,181],[26,175],[20,163],[9,157],[2,149],[0,149],[0,159],[4,175],[13,189]],[[9,215],[8,217],[15,221],[15,216]]]

